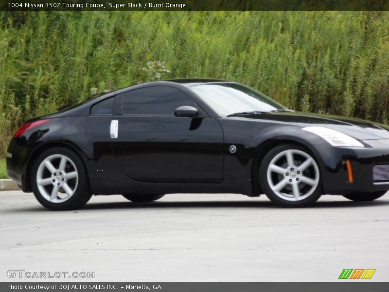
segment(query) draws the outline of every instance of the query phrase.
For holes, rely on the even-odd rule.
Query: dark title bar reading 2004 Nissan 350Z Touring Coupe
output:
[[[1,0],[3,11],[388,11],[389,0]]]

